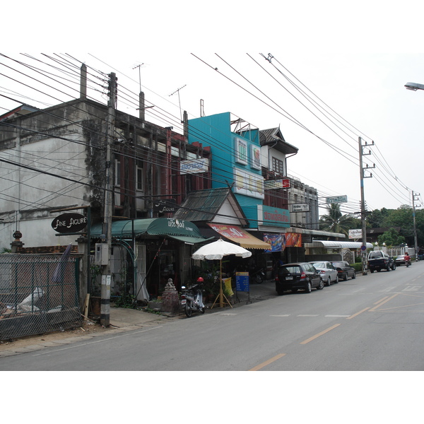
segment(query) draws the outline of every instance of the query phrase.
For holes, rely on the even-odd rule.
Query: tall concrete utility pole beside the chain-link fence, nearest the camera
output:
[[[102,266],[102,305],[100,307],[100,324],[110,325],[110,254],[112,251],[112,189],[113,189],[113,163],[111,152],[111,137],[113,134],[115,105],[117,96],[117,77],[110,73],[109,101],[107,102],[107,128],[106,128],[106,175],[105,175],[105,205],[103,211],[103,234],[107,244],[107,265]]]

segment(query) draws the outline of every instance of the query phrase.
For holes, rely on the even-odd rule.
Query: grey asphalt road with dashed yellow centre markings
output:
[[[424,370],[424,262],[0,359],[0,370]]]

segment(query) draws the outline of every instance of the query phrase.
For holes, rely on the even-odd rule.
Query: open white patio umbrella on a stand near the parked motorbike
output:
[[[245,249],[244,247],[240,247],[239,245],[235,245],[234,243],[225,242],[222,239],[217,240],[216,242],[208,243],[208,245],[202,246],[200,249],[196,250],[194,254],[192,254],[192,259],[200,259],[203,261],[204,259],[208,260],[216,260],[219,259],[219,295],[217,296],[216,300],[219,297],[219,305],[220,307],[223,307],[223,298],[225,298],[225,295],[223,294],[223,270],[222,270],[222,259],[225,256],[228,256],[230,254],[235,254],[237,257],[242,258],[248,258],[252,256],[252,252],[249,252],[249,250]],[[213,302],[213,305],[216,303]],[[225,300],[228,299],[225,298]],[[212,305],[212,307],[213,307]],[[230,302],[228,302],[228,305],[231,306]]]

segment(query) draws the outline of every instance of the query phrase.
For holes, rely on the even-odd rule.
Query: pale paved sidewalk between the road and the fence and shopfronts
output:
[[[212,304],[207,304],[206,314],[224,311],[228,312],[232,309],[248,305],[249,303],[255,303],[276,297],[275,283],[273,280],[264,281],[262,284],[251,284],[249,289],[249,293],[234,293],[232,296],[232,303],[234,303],[234,305],[232,305],[232,307],[228,305],[220,307],[219,302],[216,302],[213,309],[211,309]],[[143,310],[111,307],[110,326],[107,328],[98,324],[93,324],[88,327],[86,326],[86,330],[83,329],[83,327],[80,327],[73,331],[27,336],[24,338],[17,338],[11,342],[6,341],[4,343],[0,343],[0,359],[5,356],[39,351],[40,349],[52,346],[66,345],[82,340],[90,340],[98,336],[116,334],[122,331],[131,331],[145,326],[161,325],[175,319],[187,319],[187,317],[185,316],[184,311],[181,311],[180,314],[177,315],[171,315],[165,312],[155,314],[151,312],[144,312]],[[88,322],[88,324],[90,324],[90,322]]]

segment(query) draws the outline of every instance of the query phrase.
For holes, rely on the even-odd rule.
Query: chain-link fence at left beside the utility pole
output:
[[[0,254],[0,340],[81,324],[78,258]]]

